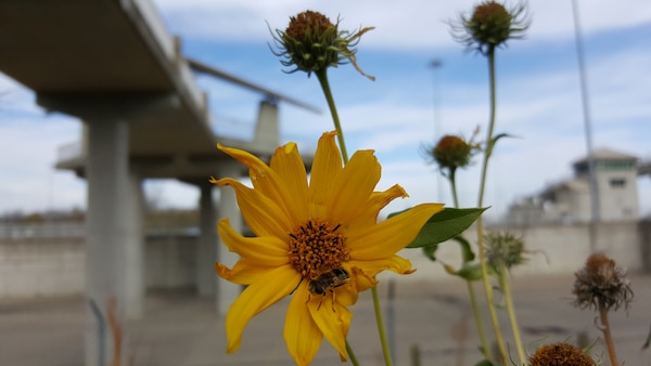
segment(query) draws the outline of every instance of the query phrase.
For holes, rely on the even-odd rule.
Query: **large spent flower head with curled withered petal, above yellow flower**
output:
[[[350,62],[357,71],[374,80],[357,65],[357,50],[354,49],[360,37],[373,27],[348,31],[340,30],[339,25],[339,19],[333,24],[326,15],[309,10],[290,16],[290,25],[284,31],[276,29],[273,40],[278,51],[271,52],[284,58],[281,60],[283,66],[294,67],[288,73],[302,70],[309,76],[312,71],[324,73],[328,67]]]

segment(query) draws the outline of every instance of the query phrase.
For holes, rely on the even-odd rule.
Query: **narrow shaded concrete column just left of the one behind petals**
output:
[[[196,250],[196,290],[201,297],[216,295],[217,274],[215,259],[217,258],[217,214],[213,201],[213,184],[207,181],[200,184],[199,197],[199,248]]]

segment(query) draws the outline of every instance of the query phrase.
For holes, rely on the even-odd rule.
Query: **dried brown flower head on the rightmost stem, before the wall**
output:
[[[592,254],[586,265],[574,273],[574,304],[579,309],[593,308],[607,311],[617,310],[633,301],[630,282],[626,272],[615,265],[615,261],[604,254]]]

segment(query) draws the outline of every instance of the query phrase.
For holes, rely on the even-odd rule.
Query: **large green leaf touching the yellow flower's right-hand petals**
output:
[[[432,215],[407,248],[422,248],[449,240],[463,233],[485,208],[446,208]],[[400,214],[393,212],[388,217]]]

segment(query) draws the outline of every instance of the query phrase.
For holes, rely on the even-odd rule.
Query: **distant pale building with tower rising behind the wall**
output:
[[[593,152],[600,221],[639,218],[638,158],[611,149]],[[510,208],[507,221],[514,225],[573,223],[590,220],[588,158],[573,165],[572,179],[551,184],[541,193],[524,197]]]

